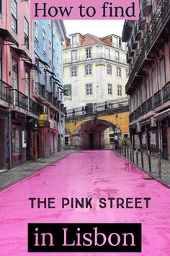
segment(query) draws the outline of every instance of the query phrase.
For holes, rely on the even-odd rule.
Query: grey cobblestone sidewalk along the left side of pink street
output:
[[[34,174],[41,168],[50,166],[52,163],[64,158],[66,155],[76,152],[78,152],[78,150],[63,150],[61,152],[57,152],[55,155],[50,155],[47,158],[40,158],[40,160],[37,161],[28,161],[27,163],[12,168],[11,170],[0,172],[0,191],[15,182],[19,182],[27,176]]]

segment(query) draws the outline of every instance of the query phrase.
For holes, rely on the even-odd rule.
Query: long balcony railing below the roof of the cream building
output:
[[[86,55],[79,55],[76,57],[75,60],[71,59],[71,58],[65,58],[63,59],[63,64],[70,64],[70,63],[76,63],[76,62],[81,62],[81,61],[90,61],[90,60],[94,60],[94,59],[107,59],[109,61],[115,61],[115,62],[120,62],[123,64],[126,64],[126,60],[125,59],[121,59],[118,58],[112,54],[104,54],[104,53],[94,53],[91,54],[91,58],[86,58]]]

